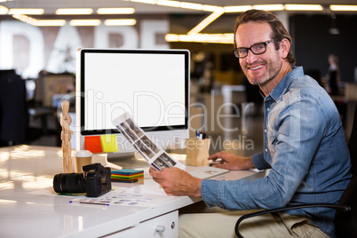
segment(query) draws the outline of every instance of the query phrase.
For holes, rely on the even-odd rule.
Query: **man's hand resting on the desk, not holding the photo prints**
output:
[[[212,165],[213,167],[222,168],[231,171],[242,171],[253,169],[254,163],[251,161],[251,157],[241,157],[238,155],[232,155],[226,151],[218,152],[214,155],[210,155],[208,160],[215,162],[217,159],[221,159],[222,163]]]

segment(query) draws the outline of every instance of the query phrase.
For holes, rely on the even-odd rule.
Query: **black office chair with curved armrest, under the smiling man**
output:
[[[311,203],[311,204],[300,204],[294,206],[285,206],[276,209],[260,210],[243,215],[237,220],[234,227],[234,232],[238,238],[243,238],[242,234],[239,232],[239,225],[242,220],[246,218],[253,218],[260,215],[265,215],[268,213],[293,210],[298,208],[313,208],[313,207],[325,207],[330,209],[335,209],[335,226],[337,237],[357,237],[357,105],[354,109],[354,119],[353,119],[353,129],[351,132],[351,137],[348,141],[348,149],[351,155],[352,163],[352,175],[353,178],[350,184],[346,187],[344,194],[342,194],[338,204],[330,203]]]

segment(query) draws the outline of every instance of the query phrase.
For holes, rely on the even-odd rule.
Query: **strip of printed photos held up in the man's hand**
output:
[[[176,161],[149,139],[147,134],[132,120],[129,113],[116,117],[112,123],[155,170],[162,171],[165,167],[178,167],[185,170],[184,164]]]

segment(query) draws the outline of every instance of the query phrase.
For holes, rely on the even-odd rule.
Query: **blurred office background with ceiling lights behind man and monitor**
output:
[[[231,52],[234,20],[249,8],[271,10],[282,20],[293,37],[297,66],[304,66],[305,73],[330,92],[349,135],[357,101],[357,0],[314,0],[307,6],[298,5],[306,3],[302,0],[284,3],[0,0],[1,146],[60,146],[58,115],[64,95],[71,102],[75,125],[75,52],[99,47],[188,49],[191,104],[208,108],[205,130],[212,137],[222,136],[221,141],[233,140],[232,147],[253,143],[253,150],[258,151],[262,147],[262,99],[258,88],[247,83]],[[350,8],[343,9],[346,6]],[[105,12],[114,7],[126,12]],[[67,8],[76,8],[75,13],[57,12]],[[339,59],[337,93],[331,93],[326,80],[331,53]],[[218,110],[225,103],[229,107],[223,113],[231,116],[219,119],[216,115],[223,114]]]

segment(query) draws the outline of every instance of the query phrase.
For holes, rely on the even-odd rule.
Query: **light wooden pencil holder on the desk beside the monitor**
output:
[[[210,139],[185,139],[186,165],[208,165],[210,156]]]

